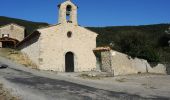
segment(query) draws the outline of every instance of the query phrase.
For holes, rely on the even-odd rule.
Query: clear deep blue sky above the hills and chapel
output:
[[[65,0],[0,0],[0,16],[56,24]],[[82,26],[170,23],[170,0],[72,0]]]

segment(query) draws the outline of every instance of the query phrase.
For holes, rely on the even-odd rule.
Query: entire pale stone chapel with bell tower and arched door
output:
[[[81,72],[96,69],[97,33],[78,25],[78,7],[67,0],[58,5],[57,25],[37,29],[17,47],[41,70]]]

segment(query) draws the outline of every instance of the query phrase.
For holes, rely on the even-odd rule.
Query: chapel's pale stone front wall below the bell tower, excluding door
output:
[[[74,54],[74,71],[92,71],[96,69],[96,57],[93,49],[96,48],[97,34],[72,23],[39,29],[40,40],[40,69],[65,71],[65,54]],[[67,37],[68,32],[72,36]]]

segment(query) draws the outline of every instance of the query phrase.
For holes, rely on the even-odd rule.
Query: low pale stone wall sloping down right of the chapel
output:
[[[166,67],[163,64],[158,64],[154,67],[151,67],[150,64],[144,59],[139,58],[133,59],[130,56],[117,51],[111,50],[101,52],[101,57],[102,57],[101,70],[104,72],[112,71],[114,75],[127,75],[138,73],[166,74]]]

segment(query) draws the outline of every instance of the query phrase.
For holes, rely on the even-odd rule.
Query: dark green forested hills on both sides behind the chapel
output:
[[[47,26],[47,23],[1,17],[0,26],[16,23],[26,27],[27,35],[33,30]],[[114,24],[114,23],[113,23]],[[141,26],[87,27],[97,32],[97,46],[110,46],[112,49],[132,57],[147,59],[149,62],[169,62],[170,35],[165,32],[170,24]]]

